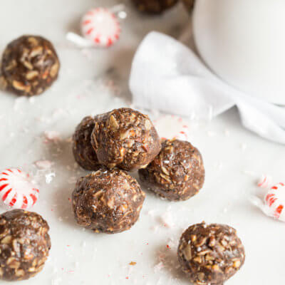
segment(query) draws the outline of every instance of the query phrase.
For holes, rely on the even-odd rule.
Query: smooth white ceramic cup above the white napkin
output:
[[[285,0],[196,0],[205,63],[249,95],[285,105]]]

